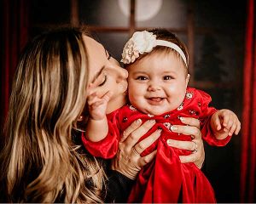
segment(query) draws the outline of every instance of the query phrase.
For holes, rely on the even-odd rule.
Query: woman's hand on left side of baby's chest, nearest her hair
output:
[[[142,157],[140,154],[160,137],[161,130],[156,130],[146,139],[137,143],[154,124],[154,120],[149,120],[142,125],[142,120],[138,119],[125,129],[119,142],[119,151],[112,160],[113,170],[119,171],[128,178],[135,179],[141,168],[154,159],[156,150],[147,156]]]

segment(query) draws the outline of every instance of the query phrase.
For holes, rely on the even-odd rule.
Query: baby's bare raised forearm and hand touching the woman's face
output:
[[[106,110],[112,93],[108,91],[101,98],[96,93],[90,94],[87,99],[90,117],[88,119],[85,137],[92,142],[104,139],[108,134],[108,120]]]

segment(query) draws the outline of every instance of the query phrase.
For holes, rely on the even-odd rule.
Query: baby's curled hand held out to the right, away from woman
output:
[[[225,139],[228,135],[239,133],[241,122],[234,112],[222,109],[212,115],[211,127],[217,139]]]

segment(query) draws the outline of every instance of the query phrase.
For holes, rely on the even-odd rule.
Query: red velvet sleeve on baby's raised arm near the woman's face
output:
[[[108,114],[108,135],[98,142],[91,142],[82,134],[82,142],[86,150],[93,156],[110,159],[115,156],[119,144],[119,111],[113,111]]]

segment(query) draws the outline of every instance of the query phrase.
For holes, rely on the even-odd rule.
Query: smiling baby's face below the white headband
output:
[[[150,54],[128,66],[131,105],[150,115],[177,109],[183,102],[189,75],[174,54]]]

